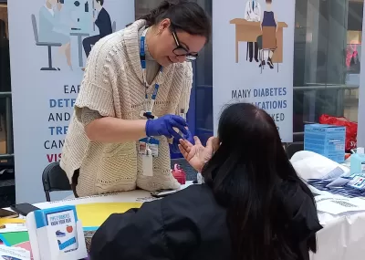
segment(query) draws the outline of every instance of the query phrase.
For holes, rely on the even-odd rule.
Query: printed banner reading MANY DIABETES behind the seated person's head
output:
[[[241,101],[292,140],[294,24],[295,1],[213,1],[214,132],[224,105]]]

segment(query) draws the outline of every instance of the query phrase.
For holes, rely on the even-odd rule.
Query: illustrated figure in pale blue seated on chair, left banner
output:
[[[62,5],[57,0],[47,0],[46,4],[40,8],[39,39],[43,42],[61,44],[58,51],[66,56],[68,66],[72,69],[69,30],[60,23]]]

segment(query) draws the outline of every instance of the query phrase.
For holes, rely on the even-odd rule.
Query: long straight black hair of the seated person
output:
[[[254,105],[237,103],[224,109],[218,137],[221,145],[202,174],[217,202],[227,208],[232,259],[293,260],[316,252],[320,224],[314,197],[288,161],[274,120]],[[305,214],[312,213],[314,232],[304,227],[306,217],[293,216],[303,203],[288,208],[293,189],[312,209]]]

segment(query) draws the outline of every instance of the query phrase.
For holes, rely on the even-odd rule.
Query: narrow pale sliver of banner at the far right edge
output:
[[[365,8],[365,7],[364,7]],[[365,9],[363,12],[365,17]],[[362,20],[361,49],[365,45],[365,19]],[[360,86],[359,86],[359,110],[358,110],[358,147],[365,147],[365,52],[361,54],[360,60]]]

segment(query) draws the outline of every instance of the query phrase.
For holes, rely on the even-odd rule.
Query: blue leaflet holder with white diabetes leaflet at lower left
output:
[[[78,214],[75,206],[39,210],[35,212],[35,218],[36,229],[47,226],[53,231],[60,251],[68,253],[78,250]]]

